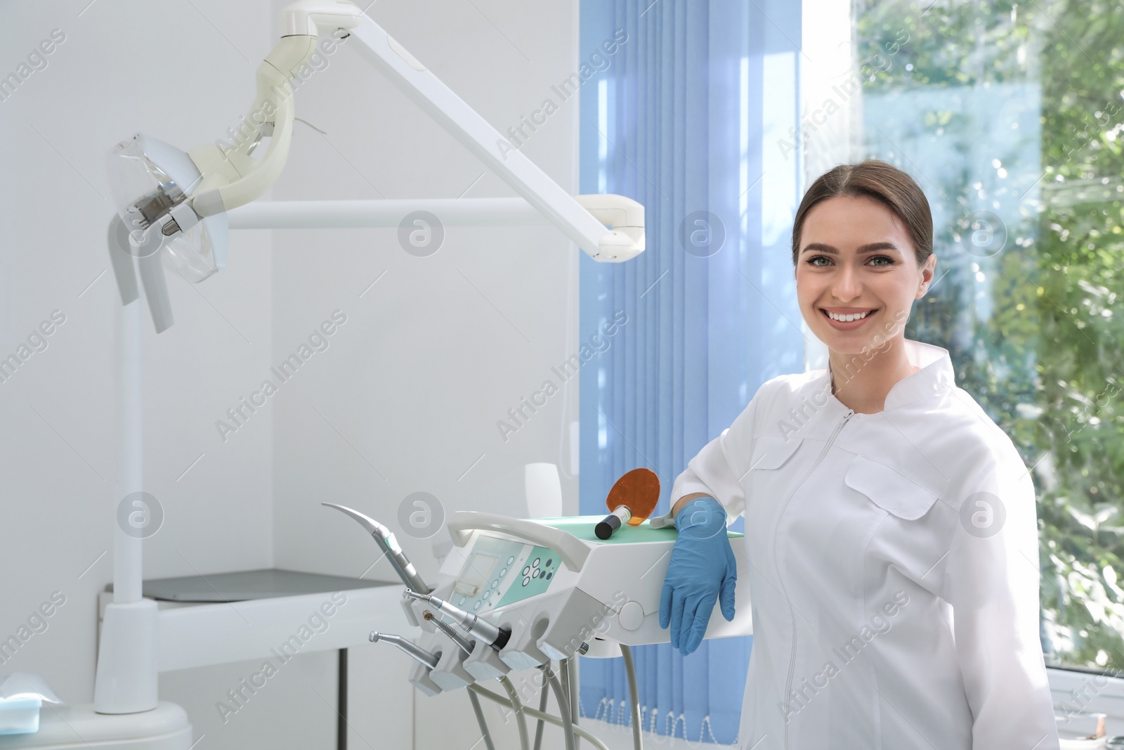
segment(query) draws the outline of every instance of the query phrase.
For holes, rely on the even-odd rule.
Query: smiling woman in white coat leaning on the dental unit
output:
[[[676,479],[661,625],[690,653],[750,576],[746,749],[1057,749],[1030,471],[949,352],[904,335],[936,263],[924,193],[836,166],[792,262],[828,368],[762,385]]]

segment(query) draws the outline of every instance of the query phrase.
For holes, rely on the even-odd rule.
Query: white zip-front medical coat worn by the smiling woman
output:
[[[905,345],[882,412],[781,376],[676,480],[745,516],[743,748],[1058,748],[1032,478],[949,353]]]

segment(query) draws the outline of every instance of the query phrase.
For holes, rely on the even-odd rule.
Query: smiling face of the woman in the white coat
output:
[[[903,336],[936,264],[930,255],[918,266],[905,224],[867,197],[836,196],[808,211],[799,251],[800,313],[812,333],[841,354]]]

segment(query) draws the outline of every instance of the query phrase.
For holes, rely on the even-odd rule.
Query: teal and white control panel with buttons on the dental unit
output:
[[[479,614],[545,593],[559,554],[535,544],[480,534],[453,584],[450,602]]]

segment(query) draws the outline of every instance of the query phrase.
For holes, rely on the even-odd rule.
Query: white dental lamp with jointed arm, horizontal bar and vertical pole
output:
[[[247,137],[188,152],[136,134],[111,150],[117,214],[108,231],[123,308],[118,336],[119,470],[116,498],[142,490],[140,313],[143,288],[157,333],[173,323],[165,266],[198,283],[227,264],[228,229],[393,226],[408,211],[446,210],[451,224],[554,224],[596,261],[622,262],[644,251],[644,207],[622,196],[571,196],[551,180],[356,6],[299,0],[282,11],[282,37],[257,67],[244,118]],[[360,54],[484,164],[519,198],[454,201],[292,201],[252,205],[281,174],[294,119],[290,79],[311,58],[318,36],[342,29]],[[244,130],[245,134],[245,130]],[[255,153],[264,141],[264,153]],[[408,208],[406,208],[408,206]],[[138,283],[139,278],[139,283]],[[378,530],[372,531],[377,540]],[[93,711],[139,714],[157,706],[161,643],[156,604],[142,596],[142,539],[115,530],[114,600],[99,641]],[[182,616],[178,622],[182,622]],[[138,721],[140,721],[138,719]],[[132,747],[132,746],[130,746]],[[164,746],[161,746],[164,747]]]

